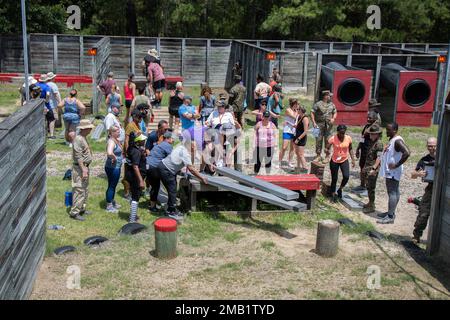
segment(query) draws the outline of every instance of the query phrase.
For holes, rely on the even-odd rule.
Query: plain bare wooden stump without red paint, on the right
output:
[[[339,223],[333,220],[319,222],[317,228],[316,253],[322,257],[331,258],[338,252]]]

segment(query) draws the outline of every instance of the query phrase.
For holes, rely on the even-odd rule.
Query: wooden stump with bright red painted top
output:
[[[177,222],[161,218],[155,221],[156,257],[173,259],[177,256]]]

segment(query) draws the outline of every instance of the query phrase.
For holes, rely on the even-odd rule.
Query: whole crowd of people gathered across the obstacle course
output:
[[[178,82],[169,96],[169,119],[161,120],[156,131],[147,128],[154,119],[153,109],[160,108],[166,86],[164,68],[156,50],[152,49],[143,61],[147,85],[137,86],[134,74],[129,74],[124,85],[125,108],[114,74],[97,89],[104,95],[107,106],[105,128],[106,146],[105,173],[108,178],[106,211],[118,213],[120,206],[115,201],[116,188],[123,176],[125,197],[130,201],[130,222],[136,222],[140,198],[144,191],[150,196],[149,210],[158,212],[158,195],[161,183],[168,193],[166,215],[182,220],[183,214],[176,208],[177,175],[191,173],[207,184],[205,174],[214,174],[215,168],[234,167],[242,171],[243,157],[239,149],[242,143],[244,114],[247,108],[247,88],[242,82],[242,66],[237,62],[233,68],[234,86],[226,94],[216,97],[207,85],[202,87],[199,105],[193,105],[191,96],[184,93],[183,83]],[[49,139],[54,139],[54,121],[61,109],[65,125],[65,139],[73,149],[73,206],[70,216],[83,221],[86,211],[89,184],[89,165],[92,153],[86,137],[93,129],[88,120],[82,120],[85,106],[77,99],[72,89],[69,96],[61,98],[52,73],[42,75],[38,81],[30,78],[30,93],[33,99],[45,99],[45,117]],[[307,173],[308,163],[305,147],[308,135],[316,139],[316,163],[328,164],[331,172],[329,196],[333,201],[343,197],[343,190],[350,179],[350,165],[360,169],[360,186],[355,191],[367,190],[369,202],[364,206],[366,214],[375,212],[375,190],[378,176],[385,179],[389,196],[388,211],[379,214],[378,223],[394,223],[400,199],[399,182],[403,165],[410,157],[404,139],[398,134],[396,123],[388,124],[386,134],[389,143],[382,143],[380,104],[369,102],[367,125],[361,133],[361,142],[355,146],[347,127],[336,124],[338,111],[332,102],[333,94],[326,90],[322,99],[314,104],[310,117],[306,108],[295,98],[284,105],[281,76],[273,70],[271,81],[264,82],[257,76],[253,90],[255,117],[253,126],[254,167],[259,174],[261,167],[271,173],[272,162],[279,144],[278,133],[282,132],[282,143],[278,153],[278,168]],[[25,85],[20,89],[24,94]],[[284,110],[286,108],[286,110]],[[284,111],[284,114],[283,114]],[[125,117],[120,119],[121,114]],[[334,129],[336,126],[336,130]],[[77,134],[78,130],[78,134]],[[174,145],[180,142],[175,148]],[[419,217],[414,230],[414,239],[420,241],[427,224],[431,206],[432,180],[430,167],[434,166],[437,141],[428,140],[429,154],[421,159],[412,178],[421,177],[429,185],[419,208]],[[324,151],[325,157],[322,157]],[[287,156],[287,161],[285,158]],[[294,161],[294,156],[296,161]],[[197,160],[199,166],[197,166]],[[293,163],[294,161],[294,163]],[[123,172],[123,168],[125,168]],[[339,187],[339,171],[342,179]],[[203,173],[203,174],[201,174]]]

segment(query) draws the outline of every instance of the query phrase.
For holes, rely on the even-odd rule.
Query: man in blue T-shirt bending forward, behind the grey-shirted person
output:
[[[161,177],[158,166],[163,159],[172,153],[174,142],[172,132],[166,132],[163,135],[163,142],[152,148],[147,157],[147,179],[150,180],[152,189],[150,191],[150,211],[157,212],[156,202],[158,201],[159,188],[161,186]]]

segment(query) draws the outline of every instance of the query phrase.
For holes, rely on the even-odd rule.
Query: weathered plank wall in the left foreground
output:
[[[45,252],[42,101],[0,123],[0,300],[26,299]]]

